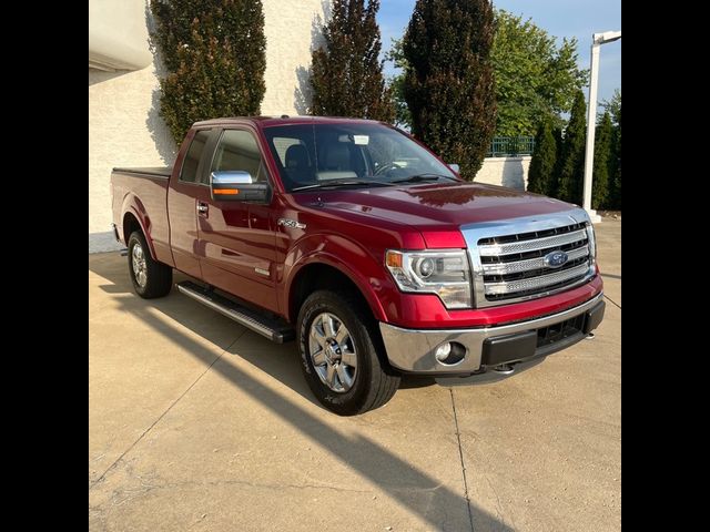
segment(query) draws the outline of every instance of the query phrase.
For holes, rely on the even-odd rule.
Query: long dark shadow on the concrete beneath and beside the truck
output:
[[[143,324],[155,332],[171,338],[172,341],[185,347],[186,350],[200,360],[205,367],[211,367],[227,379],[235,388],[250,395],[264,408],[321,444],[327,452],[342,459],[347,457],[347,463],[363,478],[376,484],[394,500],[406,507],[412,513],[419,515],[436,530],[473,530],[476,531],[511,531],[513,529],[499,521],[495,515],[469,503],[464,497],[462,485],[460,493],[443,485],[437,479],[432,478],[407,463],[399,457],[382,447],[376,441],[362,434],[344,436],[324,423],[320,417],[308,412],[302,406],[285,400],[283,396],[272,391],[243,370],[232,364],[215,364],[215,354],[201,345],[182,327],[173,325],[171,320],[161,319],[155,313],[161,313],[172,318],[181,326],[187,327],[195,335],[212,341],[224,349],[231,356],[237,355],[253,364],[270,376],[288,386],[306,400],[314,402],[311,397],[298,366],[295,342],[276,346],[264,339],[263,342],[245,342],[240,345],[237,351],[230,347],[239,339],[240,334],[235,324],[235,332],[229,339],[225,337],[224,327],[215,326],[214,320],[224,319],[215,315],[214,320],[205,321],[200,313],[211,313],[197,303],[182,298],[176,293],[163,299],[144,300],[133,295],[133,290],[126,273],[125,258],[118,254],[93,255],[89,258],[89,269],[106,279],[109,284],[101,286],[108,294],[115,295],[113,303],[119,311],[135,315]],[[182,280],[176,275],[175,280]],[[175,290],[176,291],[176,290]],[[195,318],[195,315],[199,318]],[[225,324],[226,325],[226,324]],[[246,331],[245,334],[252,334]],[[268,354],[274,356],[264,356]],[[323,416],[332,416],[323,410]]]

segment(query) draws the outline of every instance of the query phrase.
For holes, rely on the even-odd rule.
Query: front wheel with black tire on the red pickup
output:
[[[385,405],[399,376],[383,368],[384,348],[376,321],[348,293],[318,290],[298,313],[298,349],[303,374],[318,401],[341,416]]]

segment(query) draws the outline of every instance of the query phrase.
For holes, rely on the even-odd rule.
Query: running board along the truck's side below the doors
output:
[[[293,327],[285,321],[264,316],[196,283],[185,280],[179,283],[176,286],[185,296],[192,297],[204,306],[223,314],[227,318],[233,319],[254,332],[265,336],[276,344],[291,341],[296,337]]]

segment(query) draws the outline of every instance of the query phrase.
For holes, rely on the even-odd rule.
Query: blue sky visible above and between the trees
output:
[[[415,3],[415,0],[381,1],[377,22],[383,51],[389,49],[393,38],[403,35]],[[550,35],[576,37],[579,65],[584,69],[589,68],[591,34],[621,29],[621,0],[494,0],[494,7],[532,19]],[[385,74],[393,73],[392,63],[385,63]],[[600,49],[598,101],[609,100],[615,89],[621,89],[621,39]]]

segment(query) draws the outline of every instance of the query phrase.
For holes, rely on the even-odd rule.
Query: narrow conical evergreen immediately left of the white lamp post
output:
[[[557,197],[581,205],[585,171],[585,142],[587,139],[587,105],[585,95],[577,91],[572,111],[565,130]]]

